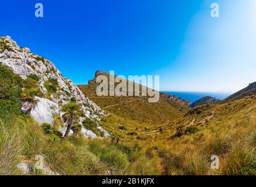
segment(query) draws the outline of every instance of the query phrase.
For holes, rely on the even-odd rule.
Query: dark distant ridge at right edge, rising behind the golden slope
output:
[[[234,94],[228,96],[226,99],[221,101],[221,103],[235,101],[250,95],[256,95],[256,82],[253,82],[249,84],[246,88],[241,89],[240,91],[235,92]]]

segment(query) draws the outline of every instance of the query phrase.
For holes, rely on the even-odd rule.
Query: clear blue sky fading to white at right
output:
[[[35,4],[44,5],[36,18]],[[210,5],[220,5],[211,18]],[[256,81],[254,0],[2,1],[0,35],[86,84],[97,70],[160,75],[165,91],[238,91]]]

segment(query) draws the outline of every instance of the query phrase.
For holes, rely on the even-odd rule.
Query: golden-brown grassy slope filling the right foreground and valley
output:
[[[203,105],[168,124],[104,117],[101,125],[125,148],[139,146],[162,175],[255,175],[256,98]],[[220,169],[210,168],[218,155]]]

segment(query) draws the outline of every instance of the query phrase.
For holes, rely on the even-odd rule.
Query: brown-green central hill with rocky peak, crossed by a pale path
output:
[[[98,75],[109,77],[107,72],[97,71],[94,79],[90,80],[88,85],[78,85],[78,88],[91,101],[111,114],[140,123],[156,124],[168,123],[170,120],[182,117],[189,110],[187,101],[166,93],[160,93],[159,102],[156,103],[149,103],[148,96],[97,96],[98,84],[95,79]],[[142,85],[139,86],[142,87]]]

